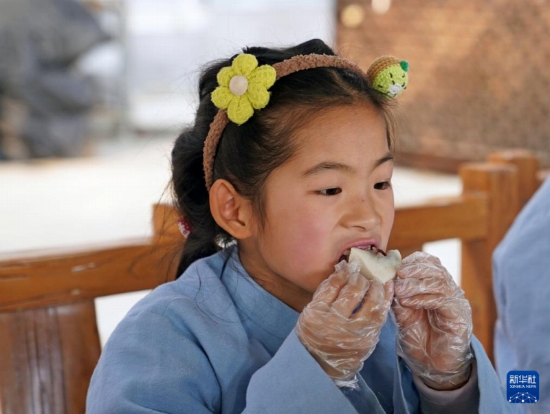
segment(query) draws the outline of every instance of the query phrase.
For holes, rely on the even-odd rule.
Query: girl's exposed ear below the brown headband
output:
[[[216,223],[235,239],[252,234],[252,206],[225,179],[217,179],[210,188],[210,213]]]

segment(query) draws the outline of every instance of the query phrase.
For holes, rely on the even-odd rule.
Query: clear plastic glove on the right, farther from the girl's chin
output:
[[[457,389],[472,364],[472,309],[437,257],[415,252],[397,268],[397,354],[433,389]]]

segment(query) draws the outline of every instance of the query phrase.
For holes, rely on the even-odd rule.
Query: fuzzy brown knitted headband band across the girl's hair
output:
[[[356,63],[346,58],[341,58],[340,56],[329,56],[325,54],[298,55],[285,61],[275,63],[272,67],[276,71],[275,80],[300,70],[314,69],[316,67],[341,67],[342,69],[347,69],[361,76],[365,76],[365,72]],[[213,184],[214,155],[216,154],[216,149],[223,129],[225,129],[228,122],[229,118],[227,111],[225,109],[219,109],[216,116],[214,116],[214,120],[210,124],[210,131],[208,131],[208,136],[204,142],[203,168],[206,188],[208,190],[210,190]]]

